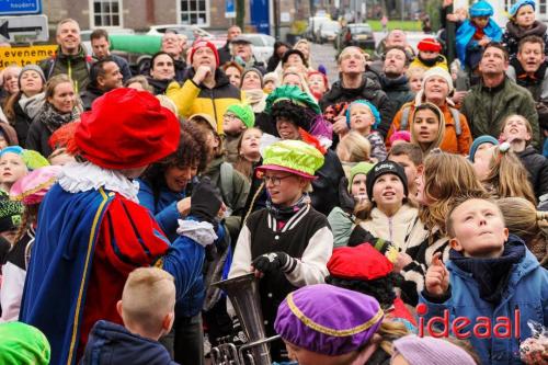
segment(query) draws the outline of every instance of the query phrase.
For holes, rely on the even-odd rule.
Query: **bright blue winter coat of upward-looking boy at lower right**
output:
[[[517,237],[510,239],[520,240]],[[523,244],[523,242],[522,242]],[[469,339],[481,357],[483,365],[522,364],[520,361],[520,339],[514,334],[514,310],[520,309],[521,340],[532,335],[527,326],[534,320],[544,326],[548,324],[548,272],[540,266],[537,259],[526,249],[525,256],[515,264],[503,290],[502,301],[493,307],[480,298],[479,286],[470,273],[457,267],[450,260],[447,262],[450,275],[450,298],[443,304],[427,301],[421,294],[420,301],[426,304],[429,311],[424,316],[424,323],[433,316],[443,316],[444,309],[449,310],[449,324],[455,317],[467,317],[472,323],[460,330],[471,331],[478,317],[489,317],[494,327],[498,317],[506,317],[512,322],[511,339]],[[450,328],[450,327],[449,327]],[[426,333],[426,330],[424,331]]]

